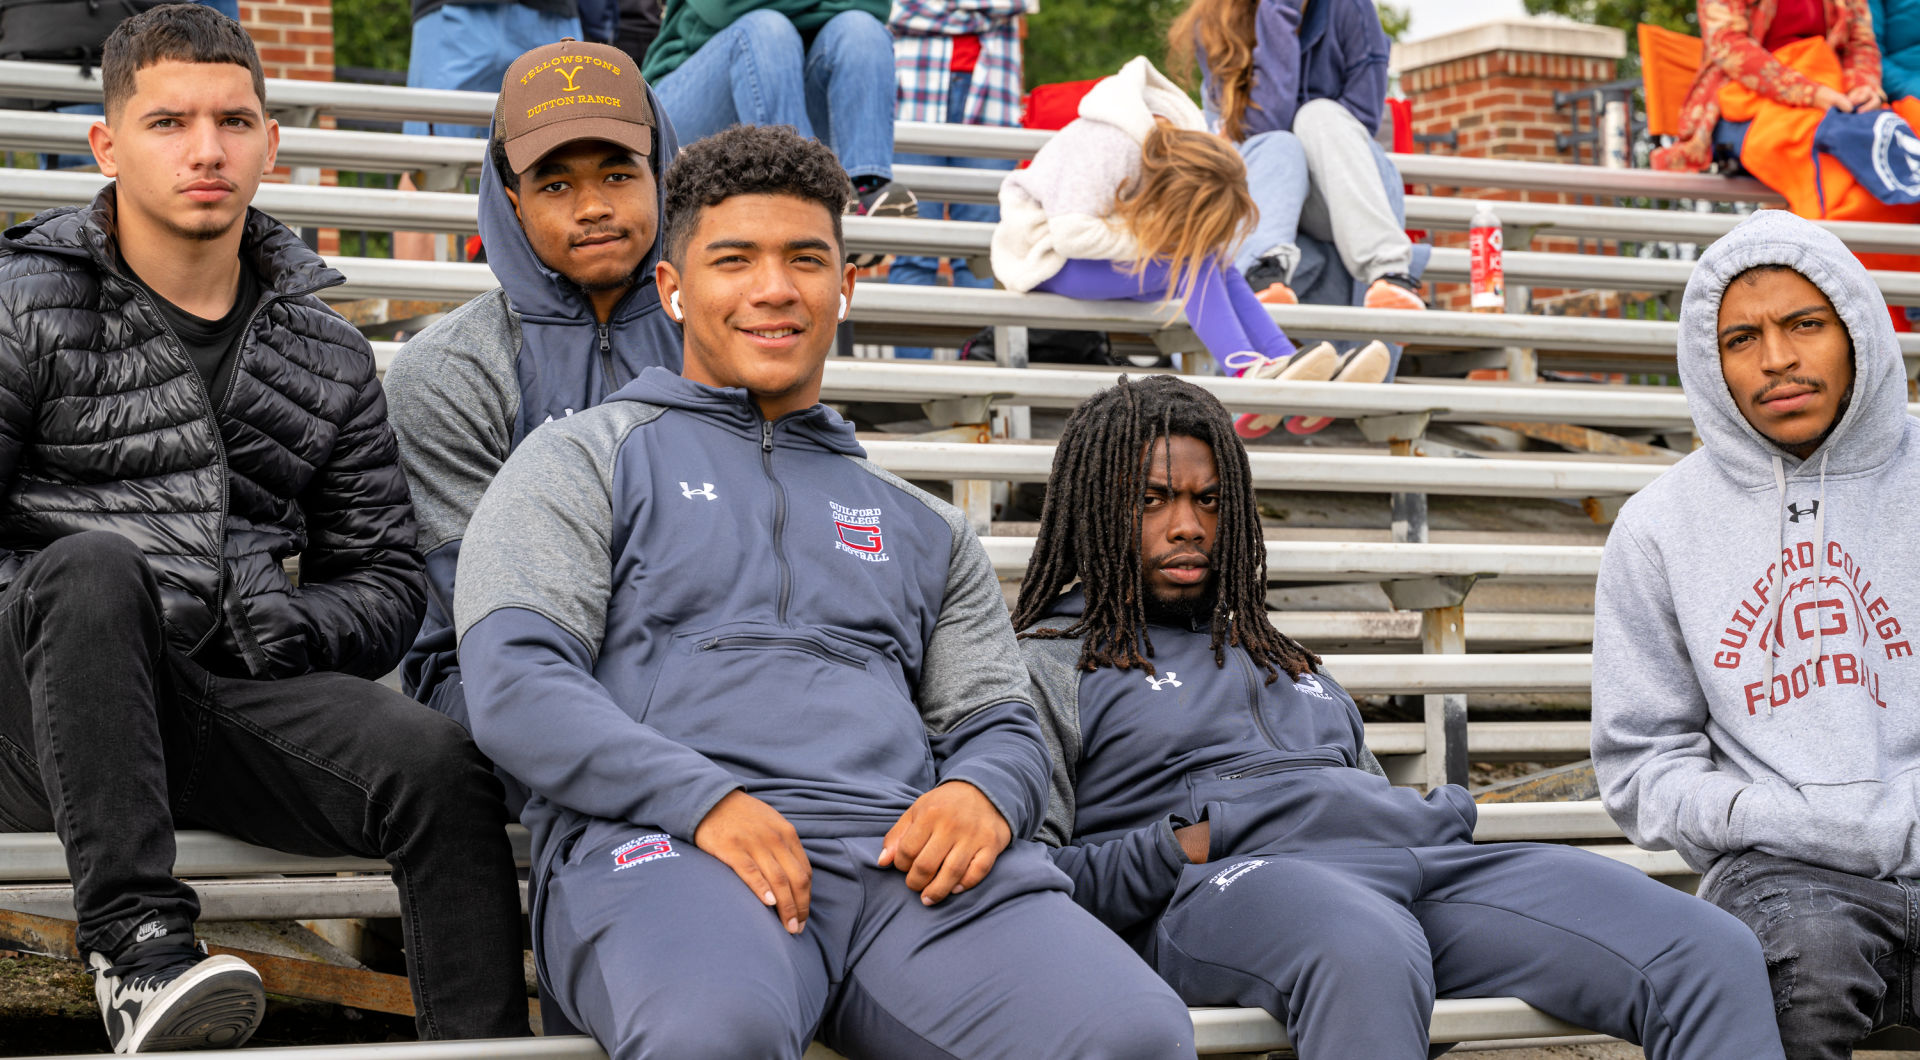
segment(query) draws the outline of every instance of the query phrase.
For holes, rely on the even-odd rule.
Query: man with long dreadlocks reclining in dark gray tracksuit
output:
[[[1014,624],[1077,903],[1304,1060],[1427,1056],[1434,997],[1521,997],[1655,1060],[1782,1056],[1738,920],[1584,851],[1475,845],[1461,787],[1390,785],[1267,620],[1265,566],[1210,394],[1121,378],[1068,419]]]

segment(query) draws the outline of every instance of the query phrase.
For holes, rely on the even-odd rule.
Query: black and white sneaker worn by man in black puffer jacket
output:
[[[267,1010],[259,972],[238,956],[159,937],[86,954],[113,1052],[173,1052],[244,1045]]]

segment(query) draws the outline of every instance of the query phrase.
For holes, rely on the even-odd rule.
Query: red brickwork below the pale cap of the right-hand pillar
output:
[[[1404,71],[1400,90],[1413,100],[1415,132],[1457,132],[1453,154],[1515,161],[1572,161],[1553,148],[1555,132],[1567,132],[1567,115],[1553,109],[1553,92],[1603,84],[1617,77],[1613,60],[1582,56],[1544,56],[1538,52],[1486,52],[1446,63]],[[1442,148],[1444,150],[1444,148]],[[1555,192],[1511,192],[1490,188],[1417,188],[1434,196],[1567,202]],[[1494,207],[1496,213],[1500,207]],[[1467,246],[1465,232],[1434,232],[1434,246]],[[1507,250],[1574,253],[1571,238],[1536,238]],[[1467,284],[1430,284],[1436,309],[1467,309]],[[1534,290],[1534,300],[1565,292]]]

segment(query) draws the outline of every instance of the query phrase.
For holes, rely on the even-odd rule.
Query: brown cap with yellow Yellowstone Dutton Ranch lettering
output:
[[[515,173],[574,140],[607,140],[641,157],[653,154],[653,108],[639,63],[611,44],[572,36],[513,60],[499,84],[493,125]]]

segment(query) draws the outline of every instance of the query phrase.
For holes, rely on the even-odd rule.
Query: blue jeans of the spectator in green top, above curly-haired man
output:
[[[653,92],[682,144],[728,125],[791,125],[833,148],[851,177],[893,177],[893,36],[841,12],[808,46],[778,12],[747,12]]]

